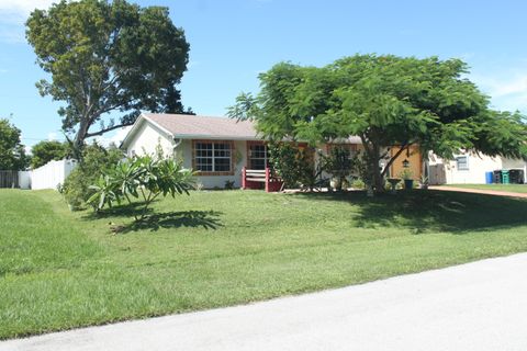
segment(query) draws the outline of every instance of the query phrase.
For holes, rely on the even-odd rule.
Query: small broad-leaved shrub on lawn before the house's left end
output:
[[[106,170],[98,181],[90,185],[94,193],[88,200],[93,208],[121,203],[123,199],[132,205],[133,199],[141,199],[143,208],[135,220],[143,220],[150,204],[159,196],[189,194],[193,189],[193,172],[184,169],[182,161],[172,158],[158,159],[152,156],[134,157],[122,160]]]

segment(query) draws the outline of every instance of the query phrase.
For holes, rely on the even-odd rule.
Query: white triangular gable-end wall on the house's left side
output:
[[[165,156],[173,154],[171,137],[149,123],[143,123],[128,143],[126,155],[154,155],[160,145]]]

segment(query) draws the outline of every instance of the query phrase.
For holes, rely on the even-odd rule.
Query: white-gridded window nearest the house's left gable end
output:
[[[229,141],[194,141],[194,169],[200,172],[232,171],[233,144]]]

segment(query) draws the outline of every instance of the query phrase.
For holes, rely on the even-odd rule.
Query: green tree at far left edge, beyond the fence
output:
[[[20,171],[27,166],[20,129],[9,120],[0,118],[0,170]]]

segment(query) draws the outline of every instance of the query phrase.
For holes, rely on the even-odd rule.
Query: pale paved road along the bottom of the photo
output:
[[[527,253],[0,350],[527,350]]]

